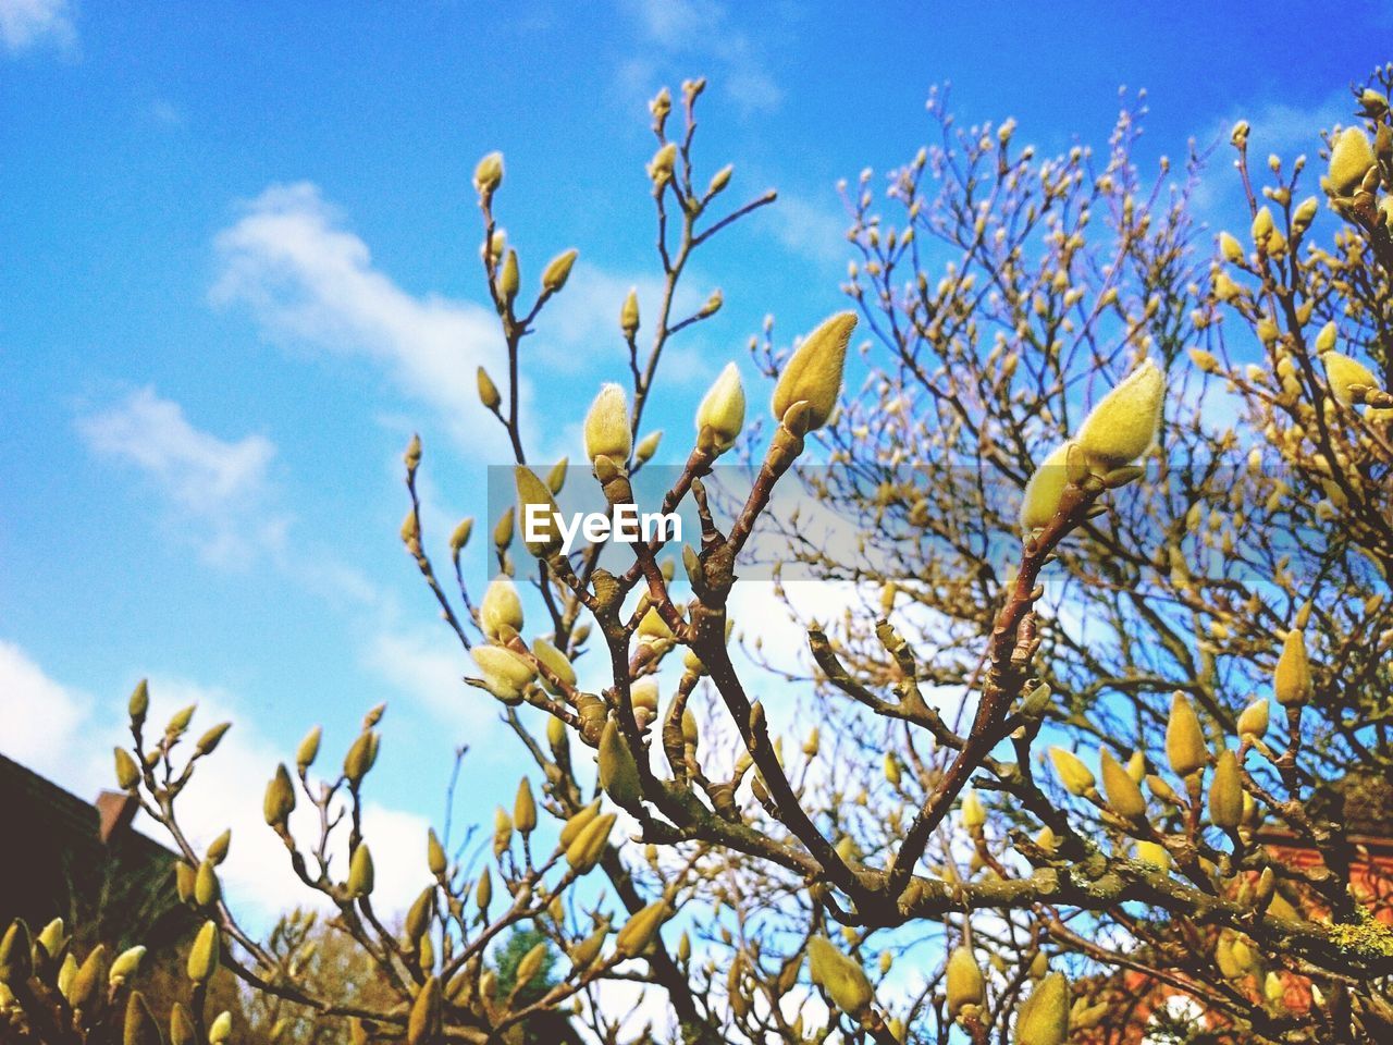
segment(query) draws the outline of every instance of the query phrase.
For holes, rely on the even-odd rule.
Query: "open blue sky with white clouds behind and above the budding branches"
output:
[[[733,199],[783,199],[694,266],[692,301],[726,307],[669,361],[653,426],[680,457],[727,359],[762,404],[742,346],[766,314],[787,341],[843,307],[834,184],[914,155],[931,85],[1042,150],[1102,144],[1127,85],[1152,159],[1237,116],[1256,149],[1314,155],[1390,28],[1358,3],[0,0],[0,751],[91,793],[149,674],[164,708],[238,720],[215,815],[245,787],[255,819],[308,725],[341,751],[382,699],[391,829],[439,815],[456,743],[507,800],[521,764],[397,539],[412,431],[428,539],[500,461],[474,397],[499,350],[482,153],[507,156],[525,283],[581,249],[528,347],[545,465],[578,453],[623,373],[621,297],[655,281],[645,100],[709,77],[699,162],[736,163]],[[1219,217],[1227,157],[1211,177]]]

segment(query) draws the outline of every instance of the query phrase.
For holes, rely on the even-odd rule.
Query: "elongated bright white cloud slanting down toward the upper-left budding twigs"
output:
[[[506,366],[492,311],[408,294],[373,266],[368,244],[316,185],[272,185],[217,235],[216,249],[216,304],[248,307],[273,339],[368,358],[439,411],[462,446],[488,451],[481,436],[501,446],[475,387],[476,366],[495,378]]]

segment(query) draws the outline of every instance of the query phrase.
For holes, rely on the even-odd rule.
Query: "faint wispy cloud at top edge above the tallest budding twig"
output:
[[[620,81],[627,89],[651,91],[660,75],[683,72],[674,67],[701,63],[710,65],[717,89],[745,114],[772,113],[783,103],[783,89],[769,74],[763,47],[733,26],[724,4],[625,0],[624,6],[656,52],[624,64]]]

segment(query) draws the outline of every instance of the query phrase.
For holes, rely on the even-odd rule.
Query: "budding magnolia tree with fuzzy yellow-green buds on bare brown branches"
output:
[[[695,506],[680,549],[563,539],[567,470],[538,468],[518,383],[577,254],[522,291],[495,217],[503,160],[485,157],[507,373],[481,369],[479,396],[513,449],[515,511],[471,596],[472,527],[439,570],[412,440],[401,535],[485,691],[469,698],[499,701],[535,782],[499,808],[492,853],[461,860],[432,833],[419,896],[386,897],[361,816],[380,709],[341,764],[312,732],[265,818],[364,970],[323,982],[306,918],[248,932],[219,890],[227,836],[198,850],[181,826],[226,726],[192,747],[191,711],[148,730],[141,687],[117,776],[205,918],[188,995],[156,1017],[137,952],[107,966],[63,927],[17,922],[7,1032],[221,1042],[248,1032],[209,1010],[221,964],[283,1003],[262,1034],[286,1041],[326,1024],[411,1045],[1389,1041],[1393,931],[1346,812],[1385,805],[1393,766],[1390,78],[1326,138],[1319,188],[1305,157],[1259,177],[1234,128],[1247,212],[1217,252],[1190,216],[1199,157],[1144,177],[1139,111],[1106,153],[1039,159],[1011,121],[960,130],[935,98],[942,137],[886,199],[869,173],[847,191],[855,308],[791,354],[772,330],[754,343],[772,435],[747,428],[734,366],[702,400],[652,506]],[[666,91],[652,102],[663,290],[652,316],[623,302],[620,380],[585,417],[582,479],[613,516],[657,450],[664,350],[722,305],[678,311],[691,256],[775,199],[727,209],[731,169],[698,178],[702,86],[676,117]],[[751,478],[729,511],[727,453]],[[855,539],[819,536],[829,517]],[[520,518],[542,524],[515,548]],[[769,548],[756,529],[784,538],[776,577],[825,582],[776,585],[805,626],[801,673],[759,665],[758,624],[731,647],[737,574]],[[798,699],[766,711],[756,687]],[[538,942],[500,975],[517,931]],[[669,1019],[627,1019],[635,984]]]

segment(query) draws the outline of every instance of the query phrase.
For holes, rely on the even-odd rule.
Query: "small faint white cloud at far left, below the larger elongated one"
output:
[[[266,511],[276,447],[265,436],[220,439],[149,387],[79,418],[78,432],[96,456],[143,472],[209,562],[245,562],[283,545],[286,518]]]

